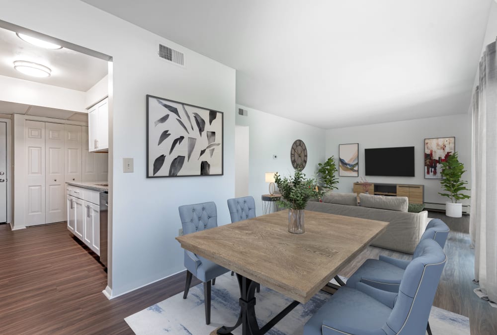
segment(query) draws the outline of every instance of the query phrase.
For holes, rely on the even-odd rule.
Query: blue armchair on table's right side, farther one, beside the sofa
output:
[[[449,227],[442,220],[431,220],[414,250],[413,259],[420,255],[423,240],[434,240],[443,249],[448,234]],[[398,292],[402,276],[410,262],[411,260],[384,255],[380,255],[379,259],[367,259],[347,280],[347,286],[355,288],[357,283],[362,282],[380,290]]]

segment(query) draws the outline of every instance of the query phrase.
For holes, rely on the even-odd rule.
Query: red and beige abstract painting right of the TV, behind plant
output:
[[[424,178],[442,179],[440,163],[456,150],[455,137],[438,137],[424,139]]]

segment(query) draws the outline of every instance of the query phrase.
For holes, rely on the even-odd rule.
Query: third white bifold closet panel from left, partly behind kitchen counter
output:
[[[81,148],[82,148],[82,127],[65,125],[66,128],[66,181],[82,181],[81,174]]]

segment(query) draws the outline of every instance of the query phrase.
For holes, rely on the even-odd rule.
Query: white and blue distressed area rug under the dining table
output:
[[[260,293],[256,293],[255,297],[259,326],[265,325],[293,301],[264,286],[260,287]],[[240,312],[239,298],[237,277],[227,273],[218,277],[216,285],[212,286],[210,325],[205,324],[202,284],[190,288],[187,299],[183,299],[181,292],[124,320],[137,335],[209,335],[221,326],[235,324]],[[330,294],[319,292],[306,304],[298,305],[266,334],[301,335],[305,323],[330,298]],[[430,326],[434,335],[470,334],[468,318],[436,307],[431,309]],[[242,334],[241,327],[233,334]]]

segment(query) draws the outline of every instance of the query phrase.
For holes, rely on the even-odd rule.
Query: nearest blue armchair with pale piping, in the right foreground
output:
[[[446,256],[433,240],[419,243],[406,267],[399,292],[364,283],[340,287],[307,322],[304,335],[425,334]]]

